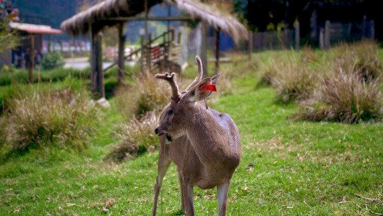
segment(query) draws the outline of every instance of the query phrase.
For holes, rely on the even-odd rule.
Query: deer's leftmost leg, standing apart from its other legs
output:
[[[156,178],[156,183],[154,185],[154,204],[153,204],[153,211],[152,211],[153,216],[156,215],[158,194],[161,189],[163,177],[165,176],[166,171],[168,171],[169,165],[171,163],[170,157],[168,156],[164,148],[166,148],[166,145],[161,143],[159,147],[159,155],[158,155],[158,175]]]

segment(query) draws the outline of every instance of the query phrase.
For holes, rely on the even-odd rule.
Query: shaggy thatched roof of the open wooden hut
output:
[[[101,30],[112,26],[117,21],[105,21],[105,18],[132,17],[144,12],[144,1],[140,0],[105,0],[86,11],[80,12],[61,23],[61,29],[70,35],[86,34],[89,27]],[[207,6],[198,0],[148,0],[148,7],[167,2],[185,12],[192,19],[205,20],[215,29],[231,35],[235,41],[247,39],[246,28],[233,16],[223,15],[216,8]]]

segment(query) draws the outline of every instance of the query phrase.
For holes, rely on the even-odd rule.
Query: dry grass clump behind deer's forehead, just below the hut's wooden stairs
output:
[[[127,119],[132,115],[142,116],[147,112],[160,112],[170,101],[170,87],[149,72],[139,73],[130,87],[117,91],[117,109]]]

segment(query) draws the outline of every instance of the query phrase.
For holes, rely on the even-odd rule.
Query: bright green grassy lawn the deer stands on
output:
[[[264,61],[271,53],[257,53],[253,58]],[[379,203],[369,203],[370,212],[362,210],[365,200],[355,196],[383,197],[383,124],[290,120],[297,105],[276,102],[270,87],[255,88],[259,71],[247,70],[235,78],[233,94],[221,96],[212,105],[234,119],[242,139],[242,160],[230,186],[228,215],[383,213]],[[0,215],[151,213],[158,153],[123,164],[103,160],[124,121],[114,99],[111,103],[85,150],[31,149],[0,161]],[[250,163],[254,166],[249,167]],[[181,213],[174,165],[163,181],[161,197],[158,215]],[[101,209],[109,199],[116,203],[105,213]],[[195,211],[196,215],[217,214],[215,189],[195,188]]]

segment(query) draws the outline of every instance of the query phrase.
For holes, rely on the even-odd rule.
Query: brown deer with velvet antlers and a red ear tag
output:
[[[156,74],[172,89],[171,101],[162,110],[158,127],[158,175],[154,185],[152,215],[156,215],[158,194],[171,162],[176,164],[181,209],[194,215],[194,187],[217,187],[218,215],[226,215],[230,180],[241,158],[241,142],[234,121],[228,114],[207,106],[206,98],[215,89],[220,74],[202,79],[202,62],[196,56],[198,75],[182,92],[175,73]]]

